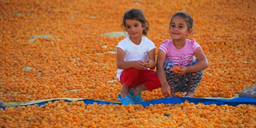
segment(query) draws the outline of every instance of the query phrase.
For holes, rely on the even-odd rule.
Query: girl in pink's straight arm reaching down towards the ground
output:
[[[166,80],[166,74],[164,71],[164,62],[165,62],[165,57],[166,54],[164,53],[163,50],[159,49],[158,50],[158,55],[157,55],[157,61],[156,61],[156,72],[157,72],[157,76],[158,79],[162,85],[161,87],[161,92],[163,94],[170,94],[169,90],[170,90],[170,86]],[[168,93],[169,92],[169,93]]]

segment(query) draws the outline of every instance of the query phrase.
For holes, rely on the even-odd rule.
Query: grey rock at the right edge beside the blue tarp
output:
[[[245,87],[238,96],[256,98],[256,86]]]

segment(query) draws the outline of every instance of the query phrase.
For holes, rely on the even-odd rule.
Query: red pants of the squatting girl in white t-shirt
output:
[[[139,84],[143,84],[148,91],[161,87],[161,83],[157,77],[156,71],[153,70],[138,70],[129,68],[123,70],[120,76],[121,84],[129,85],[128,88],[133,88]]]

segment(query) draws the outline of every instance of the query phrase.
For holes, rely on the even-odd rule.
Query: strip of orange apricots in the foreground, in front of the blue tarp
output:
[[[0,109],[5,128],[255,128],[256,106],[180,104],[84,104],[83,100],[49,101]]]

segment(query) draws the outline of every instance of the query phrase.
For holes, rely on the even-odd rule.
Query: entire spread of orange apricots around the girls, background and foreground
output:
[[[131,8],[146,16],[156,57],[170,39],[172,15],[183,11],[194,19],[188,39],[196,39],[209,61],[195,97],[232,98],[256,85],[255,0],[0,0],[0,8],[0,100],[5,103],[119,102],[115,47],[127,34],[122,16]],[[160,88],[141,96],[165,97]],[[56,100],[6,106],[0,113],[1,128],[256,127],[256,106],[245,104],[143,107]]]

